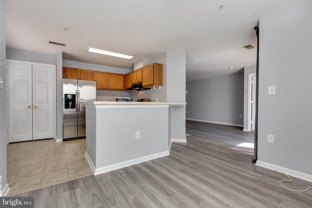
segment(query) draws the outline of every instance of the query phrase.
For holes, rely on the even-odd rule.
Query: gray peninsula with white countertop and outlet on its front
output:
[[[184,102],[85,103],[85,156],[94,174],[169,155],[170,111],[185,105]],[[185,129],[181,131],[185,135]]]

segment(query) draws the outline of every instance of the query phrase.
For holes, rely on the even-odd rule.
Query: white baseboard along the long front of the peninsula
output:
[[[147,156],[144,156],[144,157],[136,158],[136,159],[133,159],[133,160],[128,160],[128,161],[124,161],[124,162],[121,162],[121,163],[116,163],[116,164],[104,166],[104,167],[95,169],[94,175],[102,174],[102,173],[109,172],[109,171],[112,171],[112,170],[125,168],[125,167],[132,166],[132,165],[136,165],[136,164],[139,164],[139,163],[142,163],[142,162],[146,162],[146,161],[149,161],[149,160],[157,159],[159,157],[164,157],[164,156],[167,156],[167,155],[169,155],[169,151],[163,151],[163,152],[159,152],[159,153],[156,153],[156,154],[151,154],[151,155],[147,155]]]

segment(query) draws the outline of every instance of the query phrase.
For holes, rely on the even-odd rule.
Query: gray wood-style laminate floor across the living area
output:
[[[279,185],[282,173],[254,166],[252,132],[187,121],[187,143],[169,156],[91,175],[17,196],[34,196],[36,208],[311,208],[312,189]],[[296,179],[292,189],[312,183]]]

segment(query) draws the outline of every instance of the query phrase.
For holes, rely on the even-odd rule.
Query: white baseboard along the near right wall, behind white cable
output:
[[[276,172],[286,173],[286,174],[291,175],[293,177],[300,178],[302,180],[312,182],[312,175],[309,175],[309,174],[306,174],[306,173],[303,173],[303,172],[299,172],[297,170],[287,169],[287,168],[284,168],[284,167],[281,167],[281,166],[273,165],[273,164],[262,162],[262,161],[259,161],[259,160],[256,161],[255,165],[256,166],[260,166],[262,168],[274,170]]]

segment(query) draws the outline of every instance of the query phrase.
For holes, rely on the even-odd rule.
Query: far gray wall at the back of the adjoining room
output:
[[[186,117],[242,127],[244,95],[239,92],[243,90],[243,73],[186,82]]]

